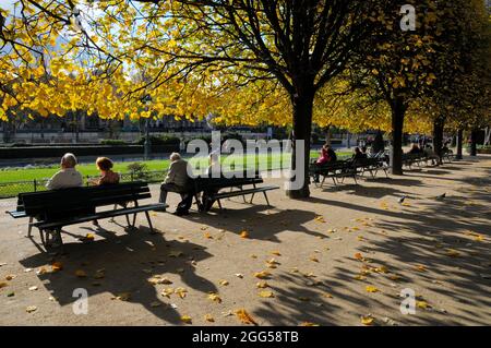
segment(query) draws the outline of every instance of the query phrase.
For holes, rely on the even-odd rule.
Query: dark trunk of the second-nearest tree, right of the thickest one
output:
[[[391,172],[395,176],[403,175],[403,130],[404,116],[406,113],[404,99],[395,98],[391,103],[392,110],[392,147],[391,147]]]

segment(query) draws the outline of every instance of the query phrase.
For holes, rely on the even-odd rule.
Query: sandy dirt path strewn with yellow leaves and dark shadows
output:
[[[1,214],[0,324],[240,325],[244,309],[259,325],[491,325],[490,175],[490,156],[466,157],[312,185],[304,201],[276,190],[274,207],[256,196],[224,201],[219,214],[152,213],[156,235],[143,215],[137,230],[125,231],[124,218],[71,226],[61,255],[38,249],[37,231],[26,238],[26,220]],[[87,233],[95,239],[81,241]],[[87,314],[75,314],[77,288]],[[417,296],[415,314],[399,310],[403,289]]]

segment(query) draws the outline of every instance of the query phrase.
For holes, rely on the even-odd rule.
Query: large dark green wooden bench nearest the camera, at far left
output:
[[[61,229],[64,226],[125,216],[128,227],[134,227],[139,213],[145,213],[148,227],[153,232],[148,212],[167,207],[167,205],[139,204],[140,201],[149,197],[152,195],[146,182],[70,188],[22,193],[17,200],[17,209],[8,213],[14,218],[29,217],[28,237],[31,237],[32,227],[38,228],[43,244],[49,248],[50,238],[56,237],[62,242]],[[133,206],[130,207],[129,203],[133,203]],[[96,208],[101,206],[112,206],[112,208],[96,212]],[[133,223],[130,223],[130,215],[133,215]],[[35,223],[34,219],[36,219]]]

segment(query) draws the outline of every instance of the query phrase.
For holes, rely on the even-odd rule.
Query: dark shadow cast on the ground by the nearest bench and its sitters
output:
[[[62,263],[62,271],[38,274],[60,305],[69,305],[76,300],[73,297],[76,288],[85,288],[89,297],[105,292],[112,293],[113,297],[125,297],[129,293],[129,302],[141,304],[155,316],[171,324],[180,324],[180,315],[163,301],[164,297],[159,296],[156,286],[148,283],[153,275],[169,275],[170,279],[177,276],[190,288],[204,293],[216,291],[213,283],[197,276],[194,271],[193,261],[200,262],[212,256],[202,245],[167,241],[161,233],[151,235],[149,229],[143,226],[121,236],[99,228],[98,235],[105,239],[84,243],[69,242],[64,244],[61,255],[51,257],[41,252],[23,259],[20,263],[24,267],[45,267],[48,271],[53,261]],[[86,277],[77,277],[77,269],[83,269]],[[104,271],[98,272],[100,269]]]

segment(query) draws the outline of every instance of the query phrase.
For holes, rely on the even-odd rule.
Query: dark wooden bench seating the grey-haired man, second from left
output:
[[[206,192],[206,195],[218,203],[218,207],[223,209],[221,200],[230,199],[235,196],[242,196],[246,203],[246,195],[251,195],[249,201],[252,204],[254,195],[256,193],[263,193],[264,199],[268,206],[270,200],[267,199],[267,191],[277,190],[279,187],[276,185],[261,185],[264,182],[260,172],[248,172],[248,171],[235,171],[235,172],[221,172],[219,178],[214,178],[212,173],[200,176],[194,179],[194,192],[196,204],[202,208],[202,203],[200,202],[200,192]],[[246,187],[246,188],[244,188]],[[227,190],[229,189],[229,190]],[[204,202],[203,202],[204,203]]]

